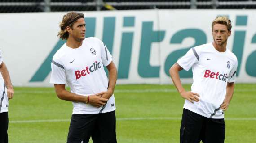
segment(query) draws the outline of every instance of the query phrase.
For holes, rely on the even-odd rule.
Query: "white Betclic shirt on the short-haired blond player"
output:
[[[186,71],[192,67],[191,91],[199,102],[185,100],[184,108],[207,118],[224,118],[220,109],[226,95],[227,82],[235,82],[237,58],[227,49],[217,51],[212,43],[191,48],[177,63]]]

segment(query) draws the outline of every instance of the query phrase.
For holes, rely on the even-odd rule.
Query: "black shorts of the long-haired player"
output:
[[[102,114],[73,114],[67,143],[116,143],[115,111]]]

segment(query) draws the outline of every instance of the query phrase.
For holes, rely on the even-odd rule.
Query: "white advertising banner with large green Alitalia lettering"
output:
[[[169,68],[192,47],[212,42],[212,21],[232,21],[227,48],[238,58],[238,83],[256,83],[256,12],[252,10],[136,10],[83,12],[86,37],[101,39],[118,68],[118,84],[172,84]],[[0,51],[15,86],[49,84],[51,60],[65,13],[0,14]],[[26,19],[26,21],[24,21]],[[181,71],[192,83],[192,71]]]

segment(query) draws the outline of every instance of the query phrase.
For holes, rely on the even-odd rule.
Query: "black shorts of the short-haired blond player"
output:
[[[225,121],[183,109],[180,131],[180,143],[224,143]]]

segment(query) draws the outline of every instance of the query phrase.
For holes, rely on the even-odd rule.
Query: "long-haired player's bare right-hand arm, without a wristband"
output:
[[[115,67],[114,62],[112,61],[109,65],[106,66],[109,73],[109,84],[108,84],[108,90],[106,92],[98,93],[103,98],[109,99],[112,94],[114,93],[115,89],[115,83],[117,79],[117,70]]]

